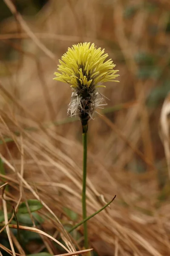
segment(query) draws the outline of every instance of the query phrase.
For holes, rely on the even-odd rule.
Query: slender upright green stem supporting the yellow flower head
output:
[[[83,220],[86,219],[86,174],[87,174],[87,129],[83,125],[83,188],[82,188],[82,210]],[[87,222],[84,222],[84,247],[88,249]]]

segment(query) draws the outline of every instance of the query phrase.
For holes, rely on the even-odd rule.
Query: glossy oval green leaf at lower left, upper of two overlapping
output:
[[[29,199],[27,200],[27,203],[29,205],[30,212],[35,212],[43,207],[41,202],[36,199]],[[20,204],[20,206],[18,207],[18,213],[29,213],[25,202]]]

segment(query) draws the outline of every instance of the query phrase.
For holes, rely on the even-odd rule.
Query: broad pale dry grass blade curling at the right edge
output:
[[[167,169],[170,178],[170,93],[164,100],[160,116],[160,137],[164,145]]]

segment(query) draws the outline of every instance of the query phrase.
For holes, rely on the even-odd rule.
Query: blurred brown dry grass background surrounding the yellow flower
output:
[[[117,195],[89,221],[90,247],[99,256],[167,256],[170,183],[159,119],[170,91],[168,0],[0,1],[0,180],[8,182],[8,210],[39,197],[64,228],[81,221],[81,125],[67,116],[69,85],[53,73],[67,48],[84,41],[105,48],[120,74],[120,83],[101,89],[108,105],[89,122],[88,215]],[[47,207],[38,216],[36,225],[58,238]],[[24,232],[23,251],[12,233],[21,255],[61,253]],[[82,233],[71,241],[65,234],[65,243],[81,247]],[[0,238],[9,255],[5,231]]]

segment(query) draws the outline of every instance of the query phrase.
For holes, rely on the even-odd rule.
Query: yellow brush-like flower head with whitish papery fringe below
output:
[[[98,87],[105,87],[104,82],[115,81],[118,70],[111,59],[105,61],[108,54],[104,49],[96,49],[95,44],[80,43],[68,48],[59,60],[55,80],[70,84],[73,89],[68,111],[82,118],[92,118],[96,108],[106,103],[98,92]]]

